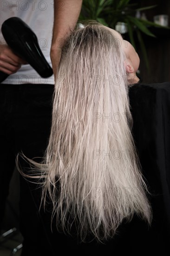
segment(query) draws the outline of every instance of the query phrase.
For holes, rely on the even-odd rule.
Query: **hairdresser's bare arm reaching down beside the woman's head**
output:
[[[51,45],[51,61],[54,77],[57,74],[62,46],[78,21],[82,0],[54,0],[54,25]]]

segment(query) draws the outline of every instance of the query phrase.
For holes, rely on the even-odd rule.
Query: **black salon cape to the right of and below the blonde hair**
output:
[[[151,226],[134,216],[122,223],[118,234],[106,244],[77,244],[70,236],[50,231],[50,218],[42,219],[51,255],[169,255],[170,253],[170,82],[135,84],[129,88],[132,134],[150,190]],[[59,253],[61,251],[61,253]],[[68,253],[66,253],[68,251]]]

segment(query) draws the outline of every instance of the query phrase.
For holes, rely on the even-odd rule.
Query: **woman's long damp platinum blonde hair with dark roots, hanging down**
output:
[[[125,55],[99,24],[77,27],[62,50],[52,128],[41,168],[58,229],[100,242],[151,210],[131,135]],[[48,195],[48,196],[47,196]]]

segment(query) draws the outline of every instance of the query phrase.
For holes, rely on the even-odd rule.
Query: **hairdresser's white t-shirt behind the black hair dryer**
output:
[[[0,27],[11,17],[19,17],[33,30],[46,61],[52,67],[50,48],[53,28],[53,0],[0,0]],[[5,39],[0,31],[0,43]],[[4,84],[54,84],[53,75],[42,78],[29,64],[22,65],[17,73],[7,77]]]

